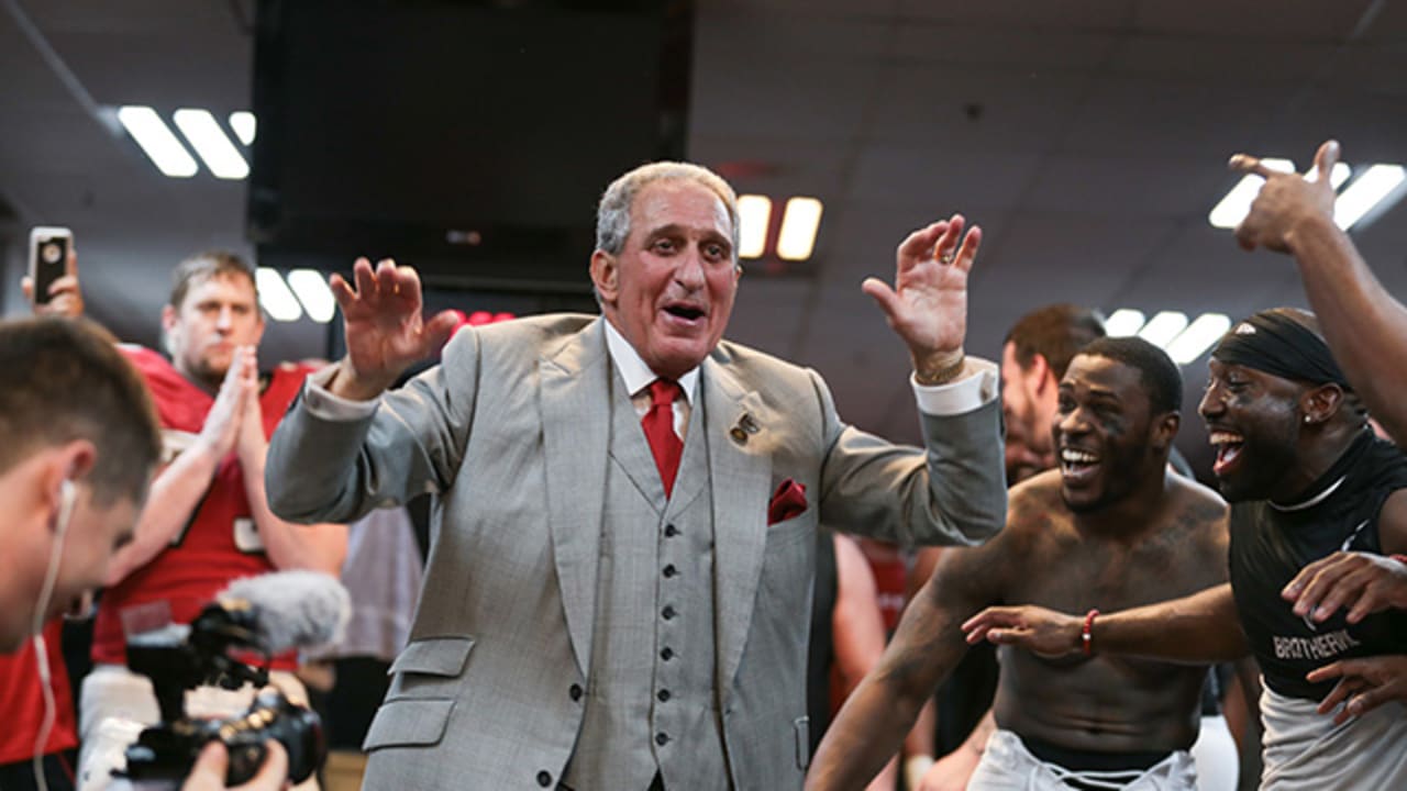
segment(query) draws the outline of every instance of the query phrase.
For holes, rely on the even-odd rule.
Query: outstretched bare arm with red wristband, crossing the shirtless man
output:
[[[1085,650],[1085,619],[1043,607],[989,607],[962,624],[962,631],[969,643],[985,639],[1043,656],[1068,656]],[[1090,650],[1211,664],[1240,659],[1249,653],[1249,646],[1231,586],[1221,584],[1183,598],[1097,615],[1090,624]]]

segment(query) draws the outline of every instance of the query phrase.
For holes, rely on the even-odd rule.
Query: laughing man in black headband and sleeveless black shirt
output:
[[[1335,550],[1407,549],[1407,456],[1368,429],[1311,314],[1251,317],[1223,338],[1210,367],[1200,412],[1233,502],[1231,583],[1097,618],[992,608],[964,626],[968,640],[1173,662],[1252,652],[1266,685],[1262,788],[1407,787],[1407,707],[1325,716],[1365,678],[1335,684],[1317,670],[1407,653],[1407,615],[1299,612],[1282,597],[1304,564]]]

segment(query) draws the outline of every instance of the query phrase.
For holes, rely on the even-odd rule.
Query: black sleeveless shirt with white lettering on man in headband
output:
[[[1276,692],[1318,701],[1334,681],[1310,684],[1310,670],[1339,659],[1407,653],[1407,612],[1389,609],[1351,626],[1339,608],[1313,624],[1280,598],[1300,569],[1320,557],[1339,549],[1380,553],[1377,515],[1399,488],[1407,488],[1407,456],[1365,431],[1301,504],[1231,507],[1231,590],[1265,683]]]

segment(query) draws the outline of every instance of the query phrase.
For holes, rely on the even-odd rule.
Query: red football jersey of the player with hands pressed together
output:
[[[215,398],[177,373],[156,352],[125,345],[121,349],[146,379],[162,424],[162,460],[170,462],[200,435]],[[266,436],[273,435],[312,370],[291,363],[274,369],[259,397]],[[243,470],[231,452],[170,546],[103,594],[93,632],[93,662],[127,663],[124,611],[166,601],[172,622],[189,624],[232,580],[273,570],[245,497]],[[274,663],[284,670],[294,666],[293,654],[281,656]]]

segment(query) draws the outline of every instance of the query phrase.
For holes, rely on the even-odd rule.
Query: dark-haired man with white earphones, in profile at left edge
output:
[[[44,624],[103,584],[113,556],[131,539],[160,438],[151,397],[113,338],[86,321],[42,317],[0,322],[0,435],[6,438],[0,501],[8,510],[0,519],[0,546],[6,548],[0,553],[0,667],[7,681],[32,692],[45,683],[32,673],[34,663],[28,676],[11,674],[24,659],[27,639],[34,635],[34,652],[42,654],[45,640],[38,633]],[[49,698],[41,730],[56,709]],[[23,729],[13,718],[24,712],[8,704],[4,711],[7,730]],[[183,790],[224,788],[227,761],[221,746],[207,747]],[[48,768],[39,757],[14,761],[3,767],[0,787],[32,788],[35,773]],[[56,788],[49,777],[49,787]],[[273,791],[286,777],[287,754],[270,742],[270,759],[242,788]]]

